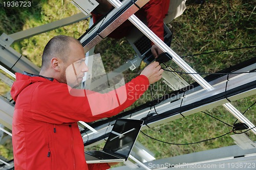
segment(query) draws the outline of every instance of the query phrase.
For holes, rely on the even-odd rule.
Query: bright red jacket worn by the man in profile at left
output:
[[[93,115],[87,96],[70,95],[67,84],[16,73],[11,89],[16,101],[12,123],[15,170],[108,169],[110,166],[106,163],[87,165],[77,122],[92,122],[118,114],[142,95],[148,79],[138,76],[125,87],[127,100],[123,104]],[[101,110],[104,107],[108,110],[115,96],[113,91],[95,93],[95,100]]]

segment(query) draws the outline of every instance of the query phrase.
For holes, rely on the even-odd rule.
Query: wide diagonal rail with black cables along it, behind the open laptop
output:
[[[246,72],[255,70],[255,68],[256,63],[253,63],[234,72]],[[225,75],[210,81],[209,84],[214,87],[213,90],[209,91],[201,86],[197,86],[177,95],[170,96],[169,99],[155,105],[158,115],[155,114],[153,107],[147,107],[125,115],[122,118],[145,119],[147,117],[144,120],[145,125],[142,127],[142,130],[144,130],[182,118],[183,116],[221,106],[229,101],[232,102],[246,98],[247,96],[256,94],[256,72]],[[208,102],[204,102],[205,100],[208,100]],[[189,105],[192,106],[191,109],[186,108]],[[98,125],[98,127],[93,126],[98,131],[97,134],[89,136],[86,133],[82,134],[84,135],[83,141],[85,147],[91,147],[92,145],[104,142],[103,139],[108,137],[108,133],[112,130],[114,122],[115,120],[112,120],[111,122]]]

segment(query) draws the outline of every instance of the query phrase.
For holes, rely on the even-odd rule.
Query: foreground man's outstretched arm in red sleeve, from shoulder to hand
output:
[[[118,114],[131,106],[147,90],[148,85],[161,78],[162,69],[158,62],[148,65],[141,75],[109,93],[101,94],[85,90],[74,90],[70,94],[67,85],[62,83],[40,84],[32,95],[32,118],[52,124],[94,120]],[[60,84],[60,85],[59,85]],[[82,93],[80,93],[82,92]],[[79,96],[80,95],[80,96]],[[90,101],[89,101],[90,99]]]

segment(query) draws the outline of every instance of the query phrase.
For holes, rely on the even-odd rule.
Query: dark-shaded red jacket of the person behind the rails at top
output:
[[[168,13],[170,0],[150,0],[135,15],[144,20],[146,18],[147,27],[151,29],[162,41],[164,40],[163,19]],[[96,22],[102,15],[92,13],[93,21]],[[108,37],[120,39],[128,35],[134,25],[126,20]]]

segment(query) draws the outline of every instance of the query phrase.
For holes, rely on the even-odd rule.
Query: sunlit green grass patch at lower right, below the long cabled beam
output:
[[[253,102],[255,102],[255,98],[246,98],[235,103],[235,106],[237,105],[236,107],[239,108],[241,112],[243,112],[249,107],[249,105],[244,104],[251,104]],[[241,106],[242,104],[243,106]],[[231,113],[224,110],[222,106],[206,110],[205,112],[223,120],[229,125],[233,125],[234,121],[236,121],[236,118],[234,118]],[[251,110],[246,113],[246,117],[253,124],[256,123],[254,113],[255,107],[251,108]],[[233,133],[230,133],[229,135],[223,136],[218,139],[209,140],[201,143],[185,144],[215,138],[225,133],[228,133],[231,130],[231,127],[222,124],[221,122],[208,116],[207,114],[199,112],[181,119],[174,120],[167,124],[143,131],[145,134],[159,140],[179,144],[166,144],[158,142],[153,139],[149,139],[142,134],[139,135],[138,140],[143,145],[146,145],[148,149],[153,151],[157,159],[161,159],[170,156],[183,155],[233,145],[233,139],[229,137],[229,135]],[[251,132],[247,134],[253,140],[256,139],[255,135]]]

